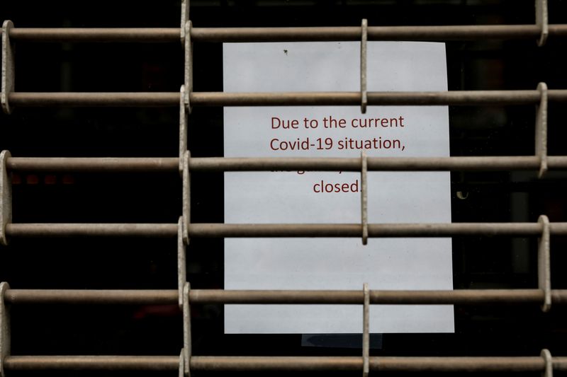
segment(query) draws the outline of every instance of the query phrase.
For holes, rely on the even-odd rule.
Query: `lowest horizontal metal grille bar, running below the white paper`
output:
[[[191,356],[191,371],[359,371],[361,356]],[[567,369],[567,357],[554,356],[554,370]],[[159,370],[179,367],[179,356],[7,356],[4,367],[29,370]],[[537,372],[540,356],[412,357],[371,356],[372,371]]]

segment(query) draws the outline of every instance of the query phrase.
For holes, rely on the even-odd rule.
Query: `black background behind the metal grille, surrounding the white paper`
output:
[[[179,27],[179,1],[8,1],[0,19],[16,27]],[[567,1],[550,0],[550,23],[567,23]],[[468,25],[534,23],[534,1],[193,1],[196,27]],[[16,43],[16,91],[179,91],[181,44]],[[567,88],[565,40],[448,42],[449,90]],[[194,45],[194,91],[222,91],[222,45]],[[372,67],[369,67],[372,69]],[[451,107],[451,156],[534,153],[535,108]],[[549,105],[549,154],[565,155],[561,103]],[[0,149],[13,156],[177,156],[176,108],[16,108],[0,115]],[[222,108],[194,108],[192,156],[223,156]],[[451,173],[453,221],[567,221],[565,174]],[[193,222],[223,222],[223,175],[192,174]],[[462,192],[459,199],[457,192]],[[176,223],[176,173],[13,175],[13,222]],[[563,238],[551,240],[554,289],[566,289]],[[453,240],[455,289],[537,287],[535,239]],[[194,239],[193,288],[223,287],[223,240]],[[176,289],[176,240],[14,239],[0,249],[0,280],[14,289]],[[192,308],[193,354],[359,355],[360,349],[301,347],[301,335],[223,335],[222,306]],[[455,334],[383,337],[375,355],[566,355],[554,306],[455,307]],[[15,306],[12,354],[176,355],[182,347],[176,306]],[[104,374],[128,373],[101,372]],[[174,376],[174,373],[169,373]],[[30,373],[41,375],[42,373]],[[66,375],[66,373],[60,373]],[[133,373],[132,373],[133,374]],[[136,373],[139,375],[140,373]],[[145,374],[145,373],[143,373]],[[157,373],[150,373],[157,374]],[[164,373],[166,374],[166,373]],[[204,373],[203,373],[204,374]],[[300,373],[301,374],[301,373]],[[23,375],[23,373],[13,373]],[[70,373],[69,373],[70,376]]]

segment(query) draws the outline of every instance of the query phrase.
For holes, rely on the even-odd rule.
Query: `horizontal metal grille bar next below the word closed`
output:
[[[566,236],[567,222],[549,224]],[[189,224],[196,238],[359,237],[361,224]],[[540,236],[538,223],[368,224],[369,237]],[[6,224],[10,237],[176,237],[177,224]]]

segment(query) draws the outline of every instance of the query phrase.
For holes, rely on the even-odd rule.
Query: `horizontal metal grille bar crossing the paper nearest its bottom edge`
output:
[[[175,305],[178,291],[171,290],[88,290],[88,289],[9,289],[6,302],[82,303],[128,305]],[[455,291],[392,291],[371,290],[370,303],[381,305],[484,305],[484,304],[541,304],[541,289],[461,289]],[[191,303],[198,304],[340,304],[364,302],[361,291],[274,291],[191,289]],[[554,305],[567,303],[567,290],[551,291]]]

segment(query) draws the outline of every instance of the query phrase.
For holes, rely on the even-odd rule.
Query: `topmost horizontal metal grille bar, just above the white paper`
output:
[[[179,28],[12,28],[12,40],[38,42],[178,42]],[[536,39],[537,25],[369,26],[368,40]],[[359,26],[308,28],[191,28],[195,42],[295,42],[360,40]],[[564,37],[567,25],[549,25]]]

